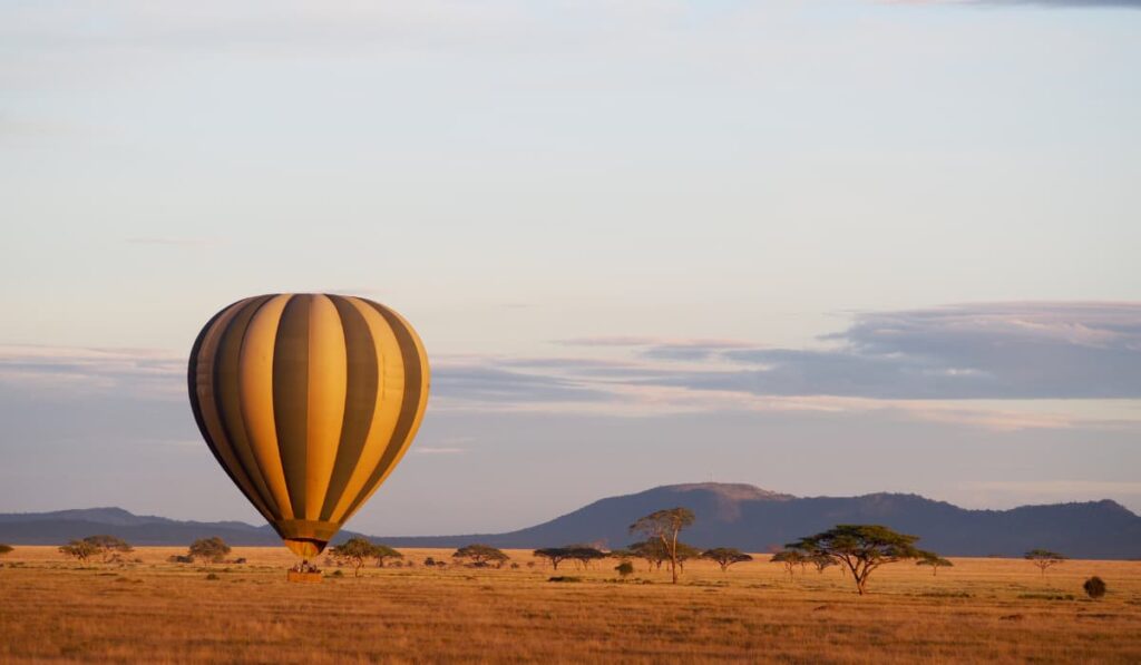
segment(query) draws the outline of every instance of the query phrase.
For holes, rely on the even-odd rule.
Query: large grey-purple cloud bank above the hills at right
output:
[[[652,381],[877,399],[1141,398],[1141,303],[988,303],[865,313],[825,349],[737,349],[741,368]]]

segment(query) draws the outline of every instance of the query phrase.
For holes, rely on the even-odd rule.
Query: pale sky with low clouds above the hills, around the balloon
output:
[[[348,525],[657,485],[1141,512],[1141,2],[0,0],[0,512],[257,513],[199,330],[357,294],[421,432]]]

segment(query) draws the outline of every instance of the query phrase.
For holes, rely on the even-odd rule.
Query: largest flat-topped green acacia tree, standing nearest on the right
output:
[[[824,554],[840,561],[852,574],[856,592],[864,595],[873,570],[885,563],[923,555],[915,548],[916,541],[919,536],[899,534],[880,525],[839,525],[787,548],[809,557]]]

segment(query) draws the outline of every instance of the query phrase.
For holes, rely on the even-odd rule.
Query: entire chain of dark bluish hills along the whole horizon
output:
[[[698,548],[733,546],[763,552],[837,524],[882,524],[921,537],[921,546],[946,555],[1018,557],[1046,548],[1083,559],[1141,559],[1141,517],[1112,501],[1027,505],[1012,510],[964,510],[914,494],[796,497],[753,487],[703,482],[655,487],[596,501],[537,526],[505,534],[383,537],[395,546],[452,548],[482,542],[499,548],[569,543],[629,544],[628,527],[663,508],[697,516],[685,532]],[[138,545],[186,545],[221,536],[235,545],[275,545],[268,525],[195,522],[136,516],[118,508],[0,514],[0,542],[58,544],[107,533]],[[358,535],[342,532],[337,542]]]

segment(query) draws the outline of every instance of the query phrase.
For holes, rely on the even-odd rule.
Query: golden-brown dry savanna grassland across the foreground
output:
[[[612,560],[553,573],[509,551],[519,568],[437,569],[420,563],[451,550],[404,550],[418,566],[308,585],[285,581],[284,549],[235,548],[242,565],[168,562],[184,552],[79,565],[17,548],[0,568],[0,662],[1141,663],[1136,561],[1042,576],[1022,560],[953,559],[934,577],[903,562],[858,597],[836,568],[790,579],[764,557],[723,574],[689,563],[673,586],[642,561],[617,582]],[[1083,593],[1090,575],[1104,598]]]

